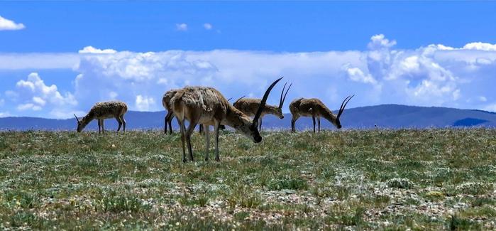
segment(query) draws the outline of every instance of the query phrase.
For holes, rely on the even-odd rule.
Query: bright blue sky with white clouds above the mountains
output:
[[[70,118],[122,100],[216,87],[287,105],[376,104],[496,112],[496,2],[0,2],[0,117]],[[268,100],[277,104],[282,84]]]

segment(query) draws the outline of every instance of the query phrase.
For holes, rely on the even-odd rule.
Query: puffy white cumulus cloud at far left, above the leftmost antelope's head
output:
[[[6,95],[11,97],[11,102],[18,103],[18,111],[41,111],[48,112],[59,107],[74,107],[77,100],[70,92],[62,95],[56,85],[46,85],[40,75],[32,72],[27,80],[19,80],[16,83],[16,91],[9,90]],[[67,116],[67,115],[66,115]]]

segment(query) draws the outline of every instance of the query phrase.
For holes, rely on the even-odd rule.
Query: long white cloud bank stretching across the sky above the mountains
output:
[[[492,90],[496,83],[496,45],[477,42],[453,48],[432,44],[409,50],[395,49],[396,45],[397,41],[380,34],[372,36],[368,49],[363,51],[135,53],[88,46],[73,56],[60,54],[75,61],[64,64],[78,73],[73,77],[73,90],[61,93],[55,85],[43,87],[41,77],[33,73],[28,80],[21,80],[4,92],[4,107],[13,106],[10,112],[0,112],[35,111],[40,116],[70,117],[72,112],[82,115],[94,102],[114,99],[127,102],[132,110],[155,111],[162,109],[163,92],[172,88],[208,85],[227,98],[260,97],[268,84],[280,76],[293,83],[288,101],[319,97],[334,109],[344,97],[354,94],[356,97],[348,107],[395,103],[496,111]],[[57,63],[60,57],[51,55],[45,64],[57,66],[50,60]],[[32,55],[7,56],[4,60],[21,63],[18,68],[23,68],[22,63],[29,65],[26,60],[32,63],[35,59]],[[2,57],[0,54],[0,60]],[[32,90],[37,84],[41,87]],[[269,103],[277,104],[280,88],[275,88]],[[29,94],[23,93],[22,99],[16,99],[21,90]]]

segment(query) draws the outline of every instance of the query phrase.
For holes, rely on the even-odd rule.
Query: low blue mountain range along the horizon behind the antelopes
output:
[[[334,111],[336,112],[336,110]],[[127,129],[163,129],[165,112],[126,113]],[[173,122],[177,129],[177,123]],[[446,107],[413,107],[398,104],[383,104],[370,107],[346,109],[341,118],[344,128],[372,129],[378,128],[428,128],[428,127],[496,127],[496,113],[471,109],[454,109]],[[107,130],[117,127],[115,119],[107,119]],[[263,119],[263,127],[271,129],[290,129],[291,114],[284,119],[271,115]],[[312,129],[312,118],[300,118],[297,129]],[[334,127],[321,119],[321,127]],[[43,119],[33,117],[0,118],[0,130],[75,130],[76,120]],[[87,129],[98,129],[97,122],[90,123]]]

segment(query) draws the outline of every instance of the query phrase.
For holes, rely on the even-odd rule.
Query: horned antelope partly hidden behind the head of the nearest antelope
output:
[[[258,119],[258,130],[262,131],[262,118],[265,116],[265,114],[273,114],[276,117],[279,117],[279,119],[284,119],[284,114],[282,114],[282,104],[284,104],[284,101],[286,100],[286,95],[287,92],[290,91],[290,87],[287,87],[286,93],[284,92],[286,88],[287,82],[284,84],[284,87],[282,87],[282,92],[281,92],[281,97],[279,99],[279,106],[275,107],[272,105],[265,105],[263,108],[262,114],[260,115],[260,119]],[[282,97],[284,95],[284,97]],[[248,115],[249,117],[255,116],[258,106],[260,105],[260,99],[253,99],[253,98],[245,98],[244,96],[236,100],[234,102],[233,106],[236,107],[238,110],[243,112],[244,114]]]

